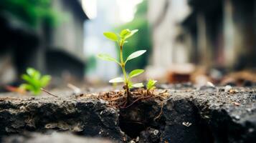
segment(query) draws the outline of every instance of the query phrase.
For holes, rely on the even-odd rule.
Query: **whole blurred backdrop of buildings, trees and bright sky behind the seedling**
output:
[[[1,0],[0,89],[19,86],[27,67],[52,86],[107,84],[121,75],[117,45],[104,31],[139,29],[124,55],[146,69],[137,80],[250,86],[256,82],[255,0]]]

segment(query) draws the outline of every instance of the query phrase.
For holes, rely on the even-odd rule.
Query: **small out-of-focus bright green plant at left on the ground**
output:
[[[40,72],[33,68],[27,68],[27,74],[22,74],[22,79],[26,84],[22,84],[19,88],[28,90],[34,95],[41,93],[41,88],[46,87],[51,80],[49,75],[41,76]]]

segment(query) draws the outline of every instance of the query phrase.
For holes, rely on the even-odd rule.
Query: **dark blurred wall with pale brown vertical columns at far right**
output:
[[[184,35],[194,39],[196,63],[239,70],[255,67],[256,1],[189,0]]]

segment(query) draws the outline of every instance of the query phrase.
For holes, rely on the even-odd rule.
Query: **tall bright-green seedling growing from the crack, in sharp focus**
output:
[[[120,32],[120,34],[115,34],[113,32],[103,33],[104,36],[107,37],[108,39],[117,42],[117,44],[119,46],[120,60],[117,60],[108,54],[98,54],[98,58],[103,59],[105,61],[114,61],[121,67],[121,69],[123,71],[123,77],[116,77],[114,79],[111,79],[109,82],[110,83],[123,82],[125,84],[124,88],[126,90],[127,96],[129,96],[129,89],[131,87],[143,87],[142,83],[133,84],[131,82],[131,79],[133,77],[138,76],[139,74],[142,74],[144,72],[144,70],[143,69],[134,69],[133,71],[131,71],[128,74],[125,71],[125,64],[128,61],[130,61],[131,59],[135,59],[136,57],[141,56],[142,54],[144,54],[146,52],[146,50],[135,51],[130,56],[128,56],[127,59],[124,60],[124,58],[123,58],[123,45],[125,43],[127,43],[128,42],[127,39],[130,38],[131,36],[133,36],[133,34],[136,34],[137,31],[138,31],[138,29],[135,29],[135,30],[123,29]]]

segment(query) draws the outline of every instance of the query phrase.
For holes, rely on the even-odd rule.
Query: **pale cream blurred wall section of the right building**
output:
[[[168,68],[175,62],[186,63],[187,49],[177,42],[179,22],[189,13],[185,0],[151,0],[148,19],[152,27],[153,65]]]

